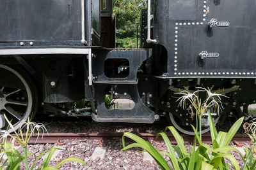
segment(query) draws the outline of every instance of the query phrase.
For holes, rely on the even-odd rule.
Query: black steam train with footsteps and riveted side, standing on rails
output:
[[[193,134],[193,120],[177,108],[174,93],[212,85],[229,97],[216,123],[241,117],[241,106],[247,113],[256,94],[255,1],[147,5],[141,15],[143,48],[114,49],[112,1],[0,1],[1,113],[18,128],[38,105],[67,111],[67,103],[85,98],[92,101],[95,121],[153,123],[165,115]],[[134,106],[109,110],[106,96]],[[207,117],[203,122],[209,131]],[[0,123],[6,127],[3,116]]]

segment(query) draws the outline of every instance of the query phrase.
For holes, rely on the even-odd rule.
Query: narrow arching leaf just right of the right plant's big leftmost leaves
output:
[[[169,140],[168,136],[163,132],[157,134],[156,139],[159,137],[159,135],[161,135],[162,138],[164,139],[164,143],[167,147],[168,152],[170,153],[170,159],[172,161],[173,168],[175,170],[179,170],[180,167],[179,167],[178,160],[176,158],[175,152],[173,150],[172,143],[170,143],[170,140]]]

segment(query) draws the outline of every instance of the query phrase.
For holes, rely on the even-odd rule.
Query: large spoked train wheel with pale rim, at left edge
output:
[[[8,127],[3,117],[5,114],[17,130],[28,117],[35,116],[38,102],[36,88],[28,74],[20,69],[0,64],[0,74],[0,128]]]

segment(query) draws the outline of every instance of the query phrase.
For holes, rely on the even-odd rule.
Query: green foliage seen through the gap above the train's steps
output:
[[[113,15],[116,17],[116,48],[136,48],[136,23],[140,23],[141,10],[147,0],[114,0]],[[140,45],[140,25],[138,26]]]

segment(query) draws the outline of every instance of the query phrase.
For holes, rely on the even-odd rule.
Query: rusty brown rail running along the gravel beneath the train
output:
[[[29,144],[45,144],[45,143],[63,143],[65,139],[99,139],[99,141],[104,142],[107,139],[121,139],[124,133],[49,133],[49,135],[45,134],[44,138],[39,136],[36,141],[37,135],[33,135],[33,137],[29,140]],[[136,134],[136,133],[135,133]],[[137,133],[141,138],[148,141],[163,141],[161,137],[156,139],[156,134],[150,133]],[[168,137],[172,144],[177,144],[175,138],[172,134],[168,134]],[[185,144],[193,143],[194,136],[182,135]],[[10,139],[9,139],[10,140]],[[129,141],[129,139],[126,139]],[[202,141],[207,144],[211,144],[211,135],[204,134],[202,135]],[[232,141],[237,141],[238,143],[244,143],[250,141],[250,138],[246,136],[246,134],[236,134]]]

